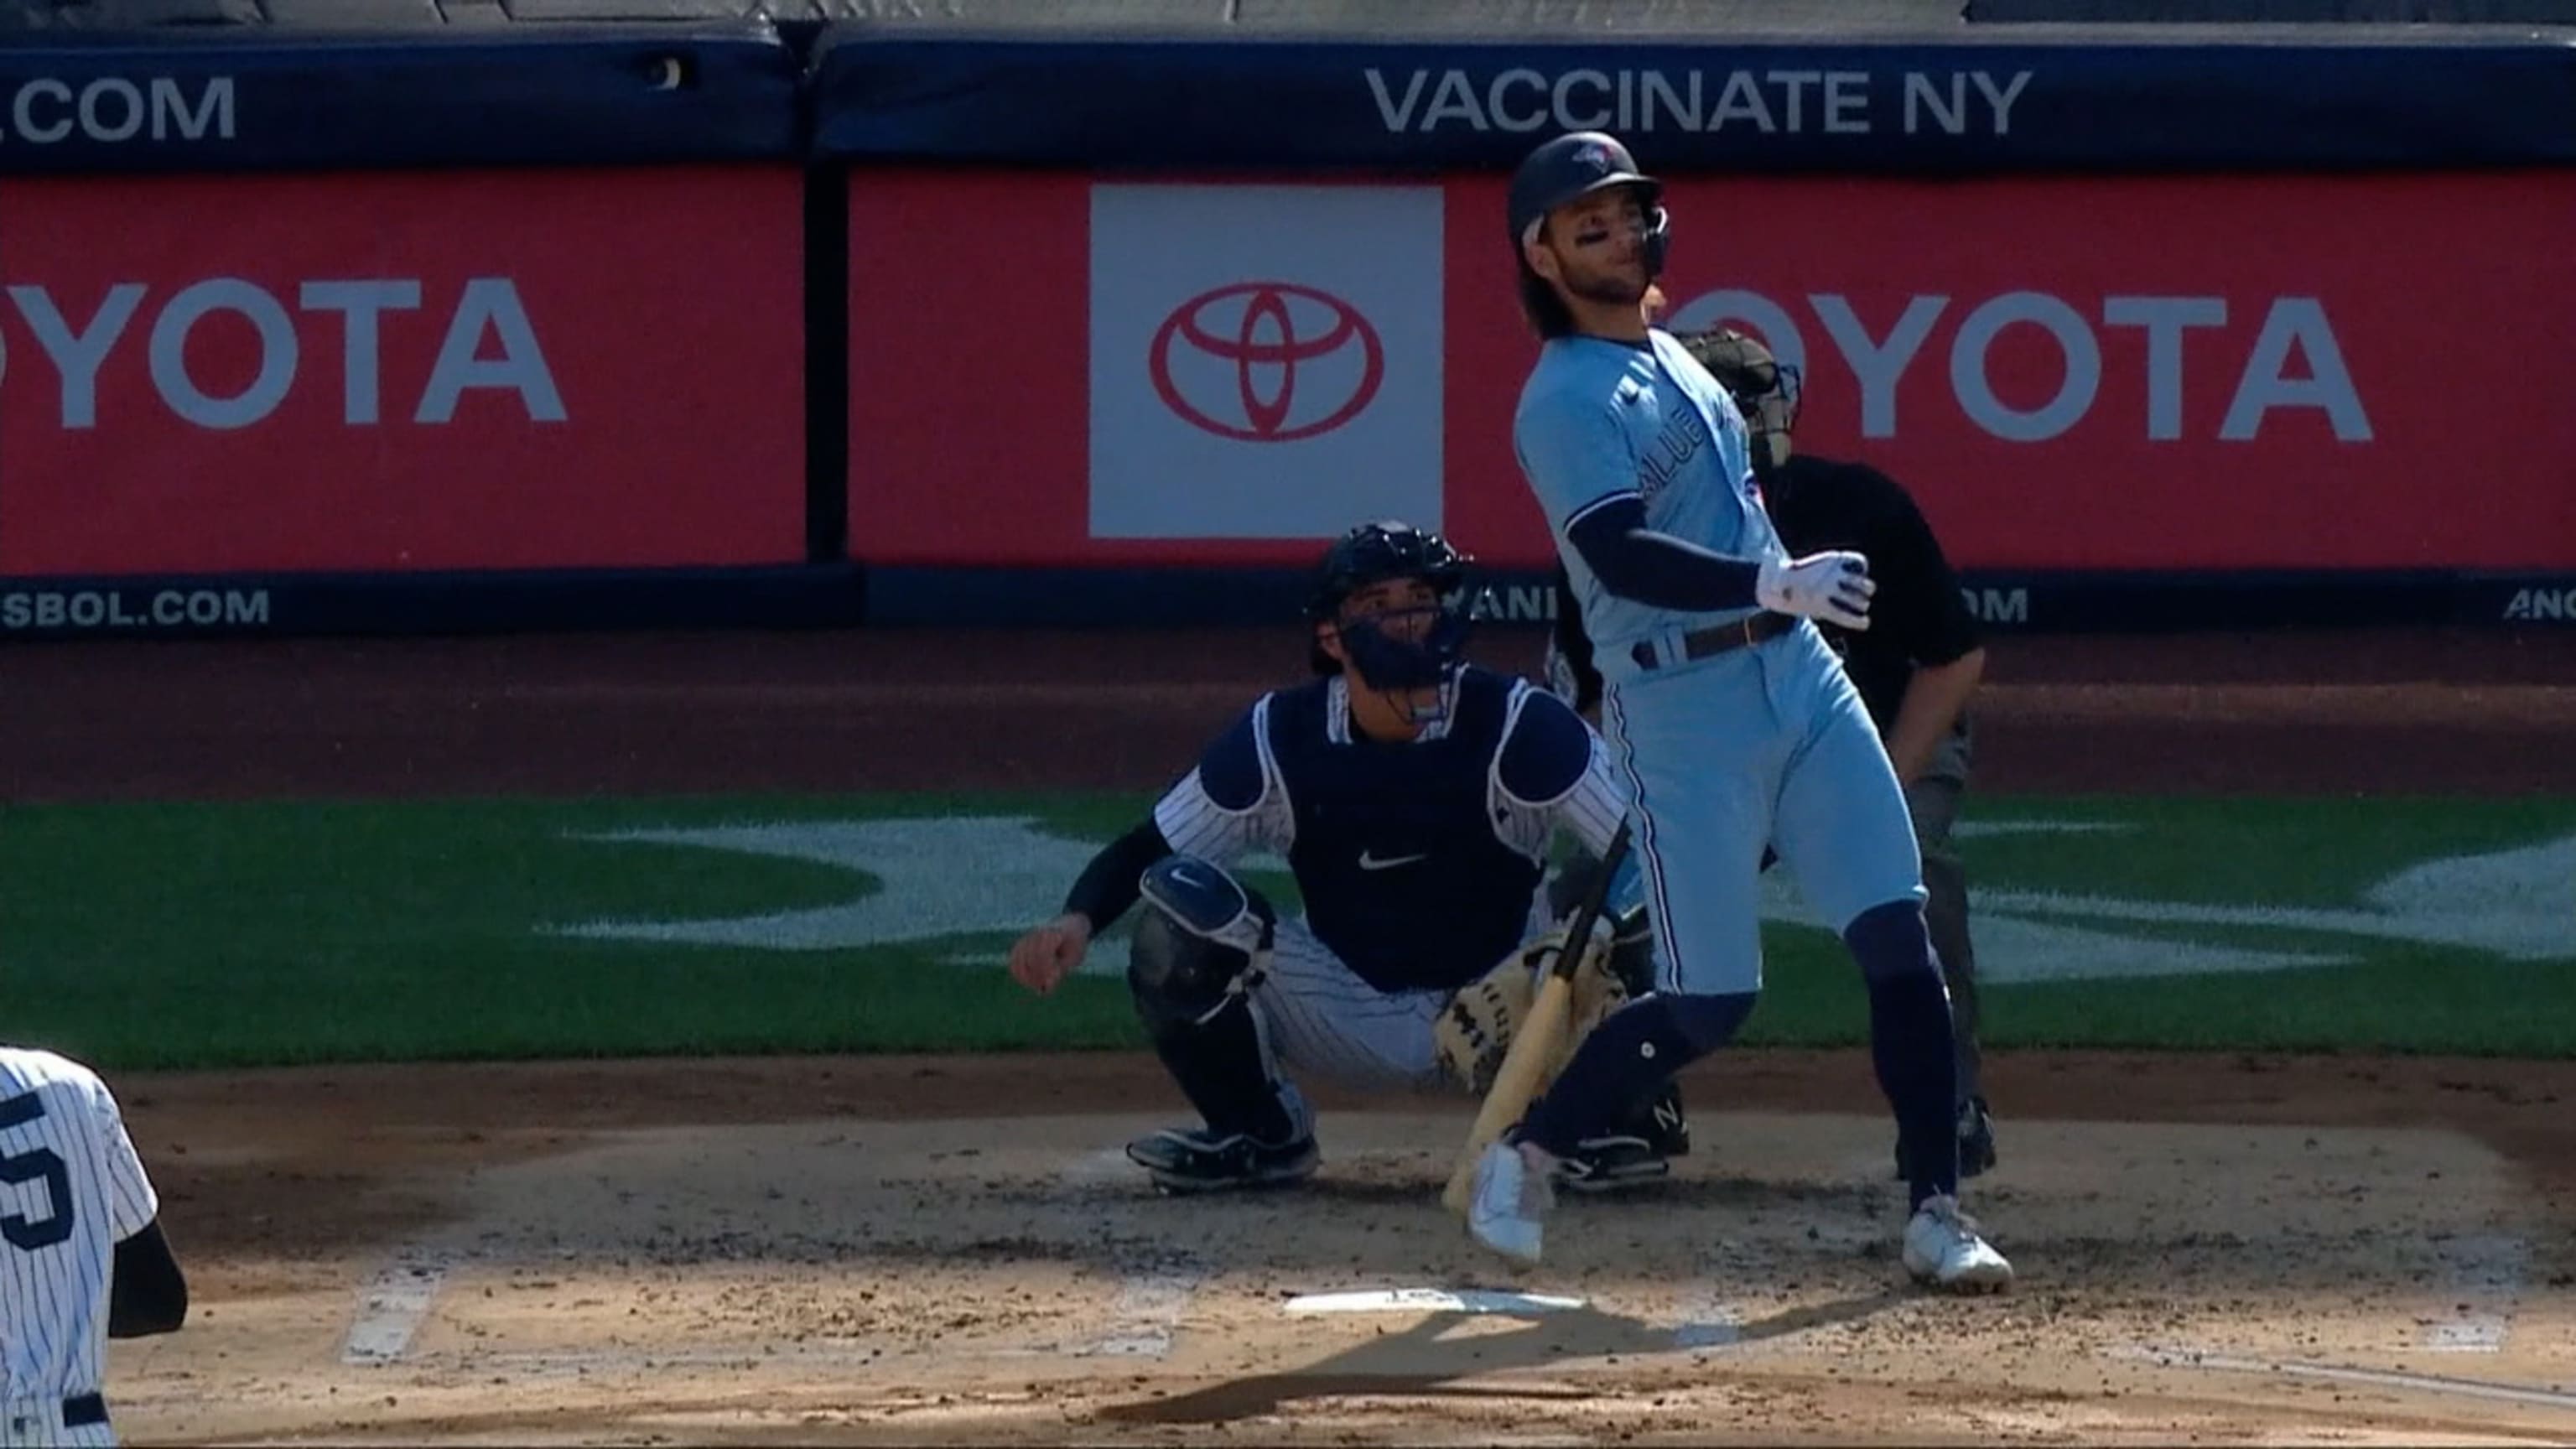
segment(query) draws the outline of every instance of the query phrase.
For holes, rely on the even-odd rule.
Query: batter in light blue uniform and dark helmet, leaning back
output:
[[[1811,619],[1865,629],[1868,559],[1790,559],[1762,511],[1744,418],[1649,325],[1662,183],[1600,131],[1512,175],[1520,302],[1546,340],[1512,423],[1602,673],[1602,722],[1636,815],[1654,985],[1613,1011],[1476,1168],[1468,1230],[1535,1263],[1551,1165],[1597,1122],[1723,1047],[1762,987],[1765,843],[1837,926],[1870,993],[1870,1052],[1924,1281],[1994,1289],[2012,1266],[1958,1207],[1950,995],[1888,753]]]

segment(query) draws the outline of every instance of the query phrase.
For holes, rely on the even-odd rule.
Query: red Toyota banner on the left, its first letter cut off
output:
[[[0,183],[0,575],[804,557],[788,168]]]

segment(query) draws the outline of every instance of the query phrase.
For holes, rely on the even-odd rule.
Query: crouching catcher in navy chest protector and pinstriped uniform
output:
[[[1363,523],[1309,601],[1314,681],[1260,696],[1154,815],[1105,846],[1010,972],[1046,995],[1139,897],[1128,987],[1203,1127],[1128,1142],[1164,1191],[1314,1176],[1314,1111],[1288,1073],[1347,1088],[1484,1093],[1564,949],[1540,882],[1566,830],[1605,851],[1625,812],[1600,735],[1528,681],[1463,663],[1468,559],[1440,534]],[[1288,859],[1283,915],[1229,874]],[[1643,920],[1605,913],[1582,944],[1566,1047],[1651,990]],[[1558,1181],[1600,1191],[1690,1150],[1667,1088]]]

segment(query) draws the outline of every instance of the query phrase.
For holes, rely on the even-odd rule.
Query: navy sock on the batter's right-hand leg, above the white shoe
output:
[[[1870,982],[1870,1065],[1896,1109],[1896,1140],[1906,1145],[1909,1207],[1955,1196],[1958,1049],[1924,910],[1911,900],[1873,905],[1842,938]]]

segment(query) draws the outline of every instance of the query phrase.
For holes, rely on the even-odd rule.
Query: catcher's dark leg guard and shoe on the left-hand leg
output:
[[[1298,1181],[1314,1173],[1303,1098],[1270,1070],[1252,1016],[1278,910],[1213,864],[1167,856],[1144,874],[1128,990],[1154,1055],[1208,1122],[1128,1142],[1167,1191]]]

